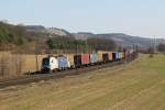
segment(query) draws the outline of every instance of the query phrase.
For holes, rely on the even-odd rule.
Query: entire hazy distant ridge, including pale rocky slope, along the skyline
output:
[[[148,37],[132,36],[123,33],[94,34],[90,32],[69,33],[66,30],[57,28],[44,28],[42,25],[28,25],[26,31],[46,33],[47,37],[54,36],[74,36],[76,40],[87,40],[89,37],[102,37],[113,40],[119,46],[139,45],[141,48],[148,48],[153,45],[154,40]],[[164,40],[156,38],[156,44],[163,43]]]

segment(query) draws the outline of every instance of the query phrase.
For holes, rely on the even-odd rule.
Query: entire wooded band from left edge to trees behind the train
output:
[[[55,30],[55,29],[54,29]],[[76,50],[84,53],[96,50],[116,50],[112,40],[89,37],[77,40],[72,34],[57,35],[54,33],[30,31],[24,25],[12,25],[0,22],[0,51],[12,51],[16,53],[45,53],[54,50]]]

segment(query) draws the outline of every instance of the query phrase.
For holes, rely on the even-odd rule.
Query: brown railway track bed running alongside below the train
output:
[[[134,58],[128,59],[129,62],[132,62]],[[94,65],[89,67],[84,67],[84,68],[77,68],[77,69],[70,69],[70,70],[64,70],[64,72],[57,72],[53,74],[36,74],[36,75],[24,75],[15,78],[10,78],[10,79],[2,79],[0,80],[0,88],[6,88],[9,86],[15,86],[15,85],[25,85],[30,82],[37,82],[40,80],[48,80],[48,79],[55,79],[55,78],[63,78],[65,76],[73,76],[73,75],[79,75],[82,73],[88,73],[97,69],[102,69],[106,67],[112,67],[123,64],[123,61],[121,62],[113,62],[113,63],[108,63],[108,64],[102,64],[102,65]]]

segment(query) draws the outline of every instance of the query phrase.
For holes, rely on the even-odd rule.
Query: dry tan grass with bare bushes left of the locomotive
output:
[[[46,55],[38,55],[38,69],[41,69],[41,64],[43,57]],[[19,55],[11,54],[10,52],[0,53],[0,66],[4,66],[4,76],[15,76],[22,75],[28,72],[36,72],[36,59],[35,55]],[[1,74],[1,70],[0,70]]]

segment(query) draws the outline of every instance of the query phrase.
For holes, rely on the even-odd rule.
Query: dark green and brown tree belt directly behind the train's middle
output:
[[[116,43],[109,38],[96,38],[90,37],[87,40],[76,40],[73,36],[59,36],[59,37],[51,37],[47,40],[46,44],[50,50],[78,50],[81,52],[89,51],[114,51]]]

